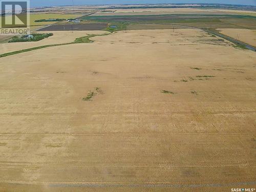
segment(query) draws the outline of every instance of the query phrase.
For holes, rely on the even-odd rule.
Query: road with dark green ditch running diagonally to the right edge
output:
[[[216,35],[218,37],[221,37],[221,38],[224,38],[230,42],[232,42],[233,44],[236,44],[238,46],[244,46],[245,48],[251,50],[251,51],[256,51],[256,48],[249,45],[249,44],[246,44],[245,42],[242,42],[240,40],[237,40],[237,39],[234,39],[234,38],[231,38],[229,36],[226,36],[226,35],[223,35],[221,33],[218,33],[218,32],[214,32],[214,31],[210,31],[210,30],[207,30],[207,29],[202,29],[202,28],[197,28],[197,27],[191,27],[191,26],[185,26],[185,25],[176,25],[176,24],[172,24],[174,26],[181,26],[181,27],[185,27],[185,28],[189,28],[189,29],[199,29],[199,30],[202,30],[204,32],[207,32],[207,33],[210,33],[212,35]]]

